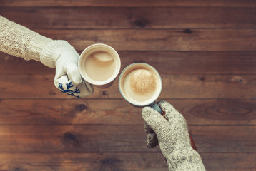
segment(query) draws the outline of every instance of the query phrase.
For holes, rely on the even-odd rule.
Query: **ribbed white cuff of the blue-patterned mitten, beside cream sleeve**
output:
[[[50,68],[56,68],[56,61],[58,60],[61,53],[64,51],[75,51],[73,46],[71,46],[67,41],[56,40],[48,43],[40,54],[40,61],[45,66]]]

